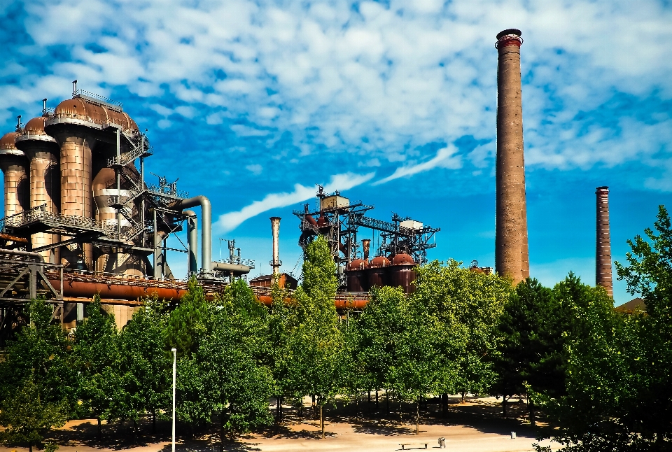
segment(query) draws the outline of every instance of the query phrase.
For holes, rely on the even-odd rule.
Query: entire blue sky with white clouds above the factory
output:
[[[74,79],[123,102],[148,129],[148,171],[209,197],[213,256],[235,239],[253,276],[270,270],[270,216],[281,270],[299,272],[292,210],[316,184],[440,227],[430,259],[493,267],[508,28],[524,38],[531,276],[594,284],[597,186],[619,262],[672,204],[669,0],[0,0],[0,17],[3,132]],[[169,263],[185,273],[185,255]],[[614,297],[631,299],[624,282]]]

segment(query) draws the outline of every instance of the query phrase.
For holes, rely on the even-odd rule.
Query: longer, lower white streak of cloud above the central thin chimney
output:
[[[324,185],[324,190],[326,192],[334,192],[335,190],[349,190],[350,188],[361,185],[367,181],[370,181],[375,173],[368,174],[336,174],[331,176],[331,181]],[[291,206],[292,204],[298,204],[315,197],[315,187],[305,186],[301,184],[294,185],[294,191],[289,193],[270,193],[266,195],[261,201],[255,201],[248,206],[240,209],[236,212],[229,212],[221,215],[217,220],[216,226],[219,227],[223,232],[228,232],[233,229],[236,229],[241,223],[249,218],[258,216],[260,213],[264,213],[271,209],[277,209],[279,207]]]

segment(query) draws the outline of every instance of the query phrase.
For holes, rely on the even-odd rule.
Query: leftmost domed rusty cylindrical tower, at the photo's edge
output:
[[[30,209],[28,159],[16,147],[18,132],[0,139],[0,168],[5,176],[5,216]]]

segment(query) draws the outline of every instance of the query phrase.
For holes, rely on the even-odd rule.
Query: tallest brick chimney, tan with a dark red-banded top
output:
[[[521,31],[497,35],[497,219],[495,267],[514,284],[530,276],[520,82]]]

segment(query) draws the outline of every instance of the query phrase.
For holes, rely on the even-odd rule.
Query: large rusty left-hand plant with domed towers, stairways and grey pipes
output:
[[[217,292],[253,264],[213,262],[211,206],[159,176],[146,181],[153,147],[119,102],[77,89],[71,99],[0,139],[5,217],[0,220],[0,332],[15,306],[36,296],[57,306],[55,318],[73,327],[83,304],[133,306],[139,297],[177,299],[186,281],[174,278],[167,251],[186,253],[190,276]],[[197,264],[200,206],[201,265]],[[186,223],[184,249],[167,238]],[[229,278],[227,278],[227,276]],[[0,333],[1,335],[1,333]]]

